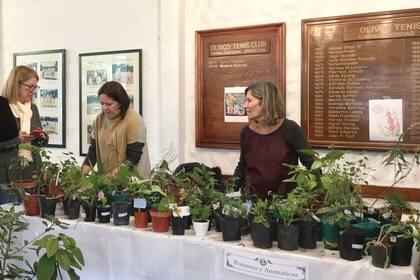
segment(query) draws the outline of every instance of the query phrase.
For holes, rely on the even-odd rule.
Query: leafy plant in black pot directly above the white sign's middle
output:
[[[268,200],[258,199],[251,207],[251,237],[255,247],[271,248],[273,239],[271,236],[271,216],[269,215],[270,205]]]

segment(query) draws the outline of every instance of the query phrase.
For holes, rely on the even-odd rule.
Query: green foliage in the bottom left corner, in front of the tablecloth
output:
[[[29,230],[29,223],[23,219],[24,212],[16,212],[12,207],[9,210],[0,207],[0,279],[32,279],[53,280],[58,276],[62,279],[65,271],[70,279],[79,279],[75,269],[81,270],[84,266],[82,252],[76,242],[70,237],[59,234],[47,234],[55,227],[67,228],[67,224],[55,217],[49,217],[48,222],[43,221],[45,229],[23,245],[15,243],[16,234]],[[25,256],[27,250],[40,253],[45,252],[31,265]],[[25,263],[26,267],[22,267]]]

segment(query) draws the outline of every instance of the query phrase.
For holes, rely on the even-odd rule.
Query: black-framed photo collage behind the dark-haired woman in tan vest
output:
[[[142,114],[141,49],[79,54],[80,155],[86,155],[93,121],[102,112],[98,90],[108,81],[123,85],[133,109]]]

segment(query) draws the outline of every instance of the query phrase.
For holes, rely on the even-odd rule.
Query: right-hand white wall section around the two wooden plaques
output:
[[[301,77],[301,20],[307,18],[368,13],[420,7],[419,0],[341,0],[341,1],[281,1],[281,0],[187,0],[185,8],[185,53],[194,53],[194,32],[215,28],[286,22],[286,104],[287,117],[300,123]],[[180,119],[185,125],[184,160],[202,161],[209,166],[218,165],[225,174],[233,174],[239,158],[236,150],[204,149],[195,147],[195,58],[185,55],[185,97],[187,110]],[[358,158],[359,152],[351,152]],[[382,153],[366,153],[372,171],[370,184],[389,185],[393,181],[392,169],[384,169]],[[419,186],[420,168],[401,186]]]

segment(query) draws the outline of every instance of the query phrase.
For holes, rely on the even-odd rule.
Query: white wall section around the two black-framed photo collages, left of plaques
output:
[[[179,3],[164,2],[161,9],[157,0],[2,0],[0,86],[13,66],[14,52],[65,48],[67,150],[78,154],[79,53],[141,48],[143,117],[151,159],[156,163],[163,152],[160,147],[171,141],[177,147],[179,142],[179,48],[172,44],[174,36],[178,40]],[[175,47],[166,49],[166,45]],[[161,137],[165,132],[171,137]],[[61,152],[54,149],[56,154]]]

